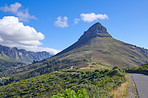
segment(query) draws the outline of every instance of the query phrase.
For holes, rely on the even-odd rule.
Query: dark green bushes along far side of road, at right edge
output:
[[[141,74],[148,75],[148,64],[142,64],[139,67],[127,68],[125,70],[126,72],[129,72],[129,73],[141,73]]]

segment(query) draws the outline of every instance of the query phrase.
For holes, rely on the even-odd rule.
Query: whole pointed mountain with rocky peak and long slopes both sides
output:
[[[114,39],[100,23],[91,26],[79,40],[57,55],[12,71],[10,76],[26,79],[63,68],[80,70],[140,66],[148,62],[148,50]]]

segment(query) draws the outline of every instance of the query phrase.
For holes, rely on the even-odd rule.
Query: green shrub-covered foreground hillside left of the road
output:
[[[90,98],[108,97],[111,89],[120,86],[123,82],[125,82],[124,71],[118,67],[112,70],[54,71],[1,86],[0,96],[51,97],[65,96],[66,92],[72,92],[75,96],[88,93]],[[86,92],[82,88],[85,88]],[[55,96],[53,98],[58,98]]]

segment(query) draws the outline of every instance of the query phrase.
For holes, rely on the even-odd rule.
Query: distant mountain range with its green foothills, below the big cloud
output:
[[[0,45],[0,72],[8,72],[52,56],[48,52],[32,52]]]

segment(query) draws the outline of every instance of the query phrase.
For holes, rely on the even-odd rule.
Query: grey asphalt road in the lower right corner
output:
[[[148,75],[131,74],[131,77],[137,87],[139,98],[148,98]]]

